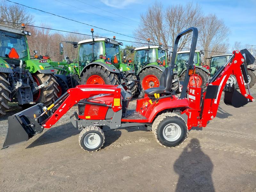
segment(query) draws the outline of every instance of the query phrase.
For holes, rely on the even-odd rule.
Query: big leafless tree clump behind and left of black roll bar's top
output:
[[[163,4],[155,2],[140,16],[140,25],[135,29],[134,36],[143,40],[150,38],[153,44],[173,45],[181,31],[191,26],[200,28],[201,20],[202,12],[198,4],[178,4],[164,9]],[[190,39],[191,36],[183,37],[179,50],[186,46]]]

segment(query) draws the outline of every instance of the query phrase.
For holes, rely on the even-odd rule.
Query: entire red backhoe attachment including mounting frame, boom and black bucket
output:
[[[244,81],[246,82],[246,78],[243,76],[247,77],[247,74],[246,70],[243,70],[244,67],[243,55],[239,51],[234,51],[230,60],[212,77],[203,94],[200,87],[189,88],[190,109],[186,112],[189,127],[205,127],[207,122],[216,116],[222,91],[225,92],[224,103],[236,108],[255,101],[250,94],[250,89],[248,88],[248,93],[245,89]],[[236,76],[240,92],[234,88],[234,85],[226,85],[231,74]]]

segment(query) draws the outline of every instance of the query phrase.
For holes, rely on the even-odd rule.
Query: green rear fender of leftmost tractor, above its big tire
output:
[[[52,66],[47,63],[47,60],[38,60],[38,59],[30,59],[26,61],[26,68],[29,70],[30,73],[54,73],[54,69]]]

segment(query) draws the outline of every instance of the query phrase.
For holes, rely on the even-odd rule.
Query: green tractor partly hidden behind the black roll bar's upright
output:
[[[190,76],[188,86],[202,87],[202,90],[206,90],[206,83],[210,78],[210,72],[201,66],[201,54],[202,51],[196,50],[194,55],[194,64],[196,66],[196,72]],[[187,71],[187,61],[189,57],[189,51],[180,51],[176,54],[176,71],[180,77],[180,81],[184,81]]]

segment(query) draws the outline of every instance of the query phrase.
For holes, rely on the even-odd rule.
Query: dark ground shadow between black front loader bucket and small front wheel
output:
[[[45,129],[44,129],[45,131]],[[77,128],[73,127],[71,123],[66,123],[53,127],[44,132],[40,137],[33,141],[27,148],[33,148],[40,145],[45,145],[49,143],[56,143],[62,140],[65,140],[71,136],[79,134]]]

